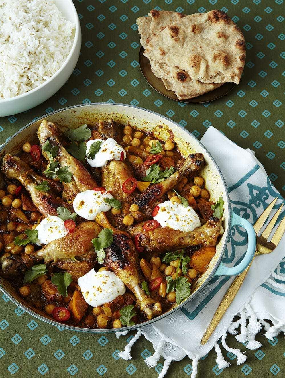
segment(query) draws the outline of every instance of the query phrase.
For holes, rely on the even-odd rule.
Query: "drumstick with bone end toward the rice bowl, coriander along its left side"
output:
[[[67,200],[73,200],[76,194],[93,189],[98,186],[94,178],[90,175],[83,164],[71,156],[61,145],[58,136],[60,135],[56,125],[43,120],[37,132],[41,146],[48,140],[52,146],[58,146],[56,160],[61,167],[68,166],[68,170],[73,174],[70,183],[64,184],[63,197]],[[43,155],[47,158],[45,152]]]

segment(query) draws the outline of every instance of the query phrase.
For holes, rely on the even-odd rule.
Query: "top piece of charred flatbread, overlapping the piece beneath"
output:
[[[192,81],[239,84],[245,64],[245,39],[225,12],[191,14],[155,34],[149,43],[146,38],[147,58],[170,67],[177,65]]]

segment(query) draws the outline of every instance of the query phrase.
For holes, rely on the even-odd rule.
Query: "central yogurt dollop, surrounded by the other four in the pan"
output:
[[[106,212],[112,207],[104,201],[104,198],[113,198],[113,196],[108,192],[102,194],[93,190],[80,192],[73,200],[73,209],[80,217],[94,220],[100,211]]]

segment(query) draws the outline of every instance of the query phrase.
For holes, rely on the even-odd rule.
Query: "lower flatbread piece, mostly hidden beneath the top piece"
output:
[[[153,9],[149,17],[139,17],[136,20],[141,36],[141,45],[146,48],[150,40],[171,23],[178,22],[184,14],[170,11],[157,11]],[[191,80],[189,75],[177,66],[169,66],[165,62],[150,59],[150,65],[156,77],[159,77],[166,89],[172,90],[178,99],[193,98],[220,87],[222,84],[205,84],[197,80]]]

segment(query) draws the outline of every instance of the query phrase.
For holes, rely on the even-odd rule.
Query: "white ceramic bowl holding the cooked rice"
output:
[[[41,104],[56,93],[72,74],[81,48],[81,28],[72,0],[54,0],[64,17],[75,24],[71,51],[60,69],[47,81],[22,95],[0,100],[0,117],[10,116]]]

